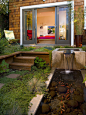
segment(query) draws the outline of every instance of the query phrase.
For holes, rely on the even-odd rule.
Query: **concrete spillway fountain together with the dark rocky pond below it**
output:
[[[81,60],[78,64],[77,56],[82,54],[82,58],[85,53],[75,51],[53,51],[52,65],[55,65],[55,71],[36,115],[86,115],[86,87],[82,83],[81,71],[76,70],[78,65],[80,68],[84,65]]]

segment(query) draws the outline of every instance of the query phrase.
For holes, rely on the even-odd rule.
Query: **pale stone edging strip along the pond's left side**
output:
[[[45,82],[46,83],[46,88],[48,88],[52,77],[53,77],[53,73],[50,73],[50,75],[48,76],[48,81]],[[31,115],[31,114],[35,115],[43,96],[44,96],[44,94],[42,94],[42,95],[37,94],[36,97],[33,97],[33,99],[30,101],[32,106],[31,106],[31,108],[28,112],[28,115]]]

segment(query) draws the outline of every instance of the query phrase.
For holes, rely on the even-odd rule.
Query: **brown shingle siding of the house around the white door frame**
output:
[[[13,30],[15,38],[20,39],[20,7],[37,4],[63,2],[67,0],[10,0],[9,1],[9,30]],[[74,8],[84,8],[84,0],[74,0]]]

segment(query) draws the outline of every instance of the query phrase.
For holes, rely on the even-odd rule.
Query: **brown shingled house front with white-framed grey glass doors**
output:
[[[73,46],[75,30],[72,12],[79,7],[84,9],[85,5],[86,0],[10,1],[9,30],[14,31],[16,39],[20,39],[20,45]]]

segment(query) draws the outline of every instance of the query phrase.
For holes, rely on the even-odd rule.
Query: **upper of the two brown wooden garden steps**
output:
[[[14,62],[18,62],[18,63],[32,63],[34,64],[34,60],[36,57],[30,57],[30,56],[18,56],[18,57],[14,57]]]

